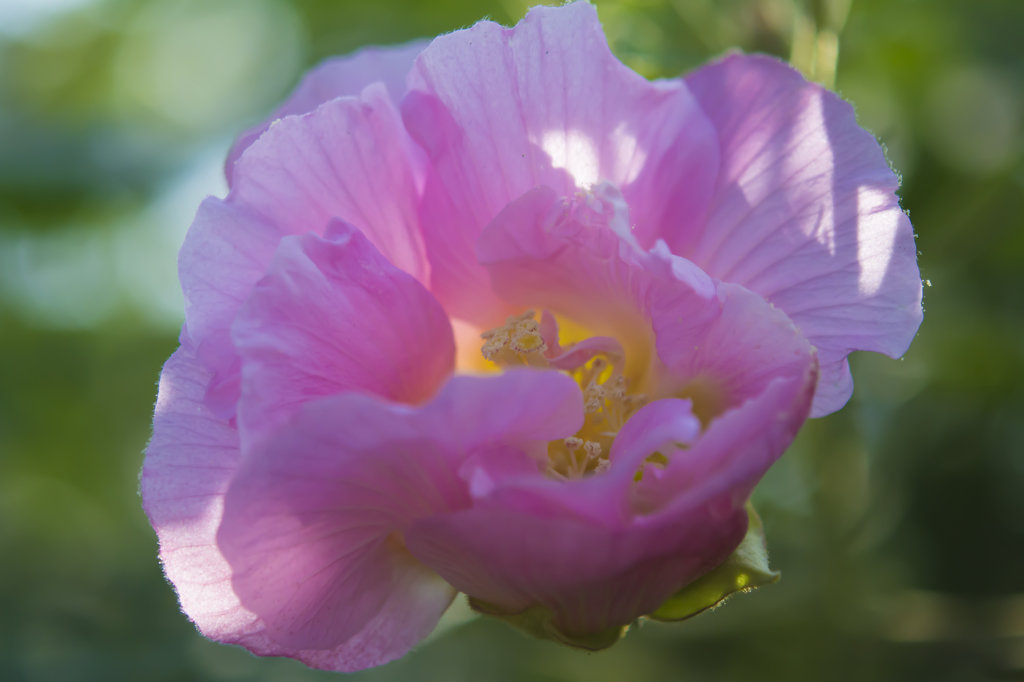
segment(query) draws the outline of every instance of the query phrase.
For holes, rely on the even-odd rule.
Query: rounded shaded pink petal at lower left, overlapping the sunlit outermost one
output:
[[[378,445],[381,433],[415,439],[406,426],[368,396],[346,393],[312,403],[239,470],[218,543],[242,603],[279,645],[344,644],[411,571],[430,579],[391,534],[411,517],[458,506],[461,481],[437,447],[418,443],[415,459],[400,446],[359,447],[370,434]],[[439,619],[455,592],[434,582],[447,597],[438,600]]]

